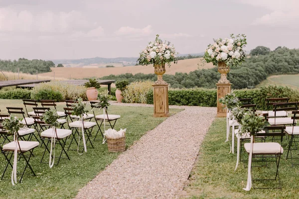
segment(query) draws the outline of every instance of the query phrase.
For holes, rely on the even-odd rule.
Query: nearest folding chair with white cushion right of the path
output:
[[[254,187],[255,189],[281,189],[281,182],[279,178],[279,165],[281,160],[281,155],[284,153],[284,149],[282,147],[283,137],[285,136],[284,130],[286,129],[285,126],[269,126],[266,127],[269,133],[266,133],[267,136],[277,136],[280,137],[280,143],[278,142],[255,142],[256,137],[265,136],[265,133],[255,133],[254,134],[254,141],[253,141],[253,148],[252,148],[252,164],[251,164],[251,175],[253,182],[269,182],[269,181],[276,181],[279,182],[279,187]],[[245,143],[244,148],[246,152],[249,154],[251,152],[251,143]],[[253,168],[259,167],[259,171],[261,170],[260,167],[267,167],[271,169],[271,165],[269,163],[274,162],[276,165],[275,169],[275,177],[271,179],[264,178],[263,174],[270,173],[267,172],[260,172],[259,178],[254,179],[253,175]],[[262,164],[261,164],[262,163]],[[265,164],[267,163],[267,164]],[[256,164],[253,166],[253,164]],[[253,183],[254,185],[254,183]]]

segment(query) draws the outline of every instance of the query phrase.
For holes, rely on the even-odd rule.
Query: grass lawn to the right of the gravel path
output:
[[[299,198],[299,165],[292,168],[291,159],[286,160],[287,142],[283,143],[285,153],[281,159],[280,178],[282,190],[242,188],[247,183],[247,168],[241,162],[236,172],[236,153],[229,153],[226,137],[225,118],[216,118],[212,123],[201,145],[198,160],[193,168],[189,184],[184,188],[188,198],[192,199],[298,199]],[[235,148],[236,149],[236,148]],[[246,153],[243,157],[248,158]],[[242,158],[243,159],[243,158]],[[298,161],[298,160],[297,160]],[[299,163],[299,161],[298,161]],[[247,164],[247,163],[246,163]],[[271,165],[273,171],[274,165]],[[269,168],[268,167],[268,168]],[[269,174],[265,167],[253,168],[254,177]],[[253,185],[256,185],[254,182]],[[261,184],[260,184],[261,185]],[[263,184],[264,187],[274,185]],[[275,184],[278,185],[278,184]]]

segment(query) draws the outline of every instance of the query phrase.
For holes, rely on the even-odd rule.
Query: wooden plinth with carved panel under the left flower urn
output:
[[[152,85],[153,87],[153,117],[169,117],[168,84]]]

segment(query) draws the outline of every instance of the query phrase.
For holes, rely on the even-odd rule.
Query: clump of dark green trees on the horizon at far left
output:
[[[44,60],[27,60],[24,58],[19,58],[16,60],[0,60],[0,69],[2,71],[11,71],[17,73],[19,69],[22,73],[29,73],[31,75],[38,73],[46,73],[51,71],[51,67],[55,67],[55,64],[52,61]]]

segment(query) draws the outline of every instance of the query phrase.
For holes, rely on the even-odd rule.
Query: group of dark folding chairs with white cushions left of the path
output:
[[[8,114],[0,114],[0,138],[3,138],[2,144],[8,142],[7,144],[4,144],[2,147],[0,146],[1,153],[4,155],[7,161],[7,165],[4,168],[1,179],[3,179],[7,168],[9,166],[12,168],[13,166],[11,163],[11,158],[13,157],[13,152],[15,148],[14,142],[12,141],[12,136],[5,131],[3,126],[1,126],[1,123],[5,118],[8,118],[10,115],[17,115],[23,118],[22,123],[24,127],[17,132],[17,152],[19,154],[19,159],[23,158],[26,164],[19,182],[21,182],[27,168],[29,168],[32,174],[35,176],[35,173],[31,165],[29,164],[29,161],[33,156],[33,150],[36,147],[38,147],[39,145],[40,147],[44,147],[44,152],[40,161],[41,163],[43,162],[45,154],[47,152],[50,153],[49,143],[51,143],[53,129],[50,125],[46,124],[43,121],[42,115],[46,110],[49,110],[51,107],[54,107],[56,109],[56,103],[54,100],[41,100],[40,106],[38,106],[36,100],[23,100],[23,102],[25,106],[25,111],[23,107],[6,107]],[[94,148],[92,143],[93,128],[98,126],[98,130],[93,139],[95,141],[99,132],[103,136],[101,126],[104,120],[108,123],[108,125],[110,125],[111,128],[114,128],[116,121],[121,117],[120,115],[108,114],[107,108],[105,114],[97,115],[95,109],[97,108],[96,104],[98,103],[98,101],[90,101],[93,114],[84,114],[84,122],[82,124],[82,122],[79,120],[80,117],[72,115],[72,106],[76,102],[77,101],[66,100],[66,107],[64,107],[64,111],[56,110],[57,114],[60,117],[57,121],[61,124],[59,128],[55,129],[55,143],[58,144],[61,148],[61,151],[59,152],[59,158],[56,163],[57,165],[59,164],[61,158],[66,158],[70,160],[67,151],[70,150],[70,147],[73,142],[76,143],[76,146],[79,145],[78,136],[82,135],[79,133],[82,129],[82,125],[84,129],[84,135],[86,136],[86,144],[88,145],[88,147]],[[28,111],[28,106],[32,106],[31,108],[33,109],[33,111]],[[27,115],[27,117],[25,116],[25,114]],[[91,121],[91,119],[93,118],[95,121]],[[66,124],[67,126],[65,126]],[[37,134],[35,132],[37,132]],[[36,139],[36,141],[32,141],[32,139]],[[67,139],[70,139],[71,141],[68,144],[68,148],[66,149]],[[82,152],[83,150],[84,148],[82,148]],[[25,153],[28,153],[29,155],[24,155]],[[63,155],[65,157],[63,157]]]

